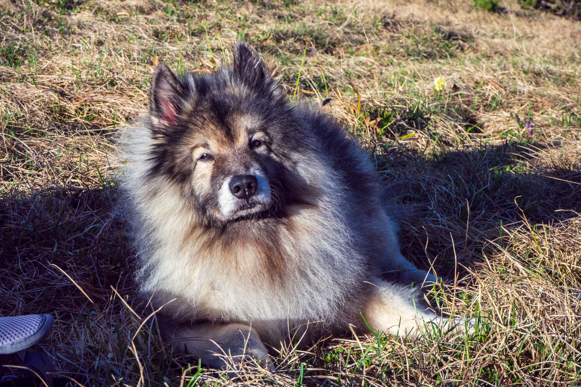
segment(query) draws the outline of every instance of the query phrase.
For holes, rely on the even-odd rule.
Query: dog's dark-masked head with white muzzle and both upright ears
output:
[[[234,65],[212,74],[177,78],[160,64],[149,102],[150,178],[178,186],[210,222],[277,205],[284,143],[296,123],[252,48],[237,44]]]

